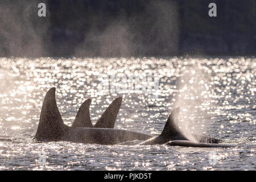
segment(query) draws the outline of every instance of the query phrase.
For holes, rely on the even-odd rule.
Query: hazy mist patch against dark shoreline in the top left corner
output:
[[[45,56],[49,40],[47,18],[39,18],[42,1],[0,2],[0,56]]]

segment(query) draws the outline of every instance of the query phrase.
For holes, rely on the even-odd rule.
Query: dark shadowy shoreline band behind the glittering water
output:
[[[34,16],[37,1],[29,3],[28,12],[28,2],[18,2],[21,16],[16,1],[1,2],[9,10],[1,24],[1,56],[244,56],[256,51],[254,0],[40,1],[47,5],[46,18]],[[217,17],[208,16],[211,2]],[[9,13],[16,16],[8,19]],[[18,26],[10,23],[14,19]],[[24,33],[17,36],[14,27]]]

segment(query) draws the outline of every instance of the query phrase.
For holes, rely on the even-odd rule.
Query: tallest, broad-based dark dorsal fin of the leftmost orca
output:
[[[44,97],[38,130],[35,135],[35,139],[37,140],[60,140],[61,136],[68,129],[68,126],[64,124],[57,107],[55,90],[55,88],[49,89],[46,97]]]

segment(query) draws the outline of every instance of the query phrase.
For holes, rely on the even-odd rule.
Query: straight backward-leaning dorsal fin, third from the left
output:
[[[113,129],[115,126],[115,119],[117,119],[118,111],[122,104],[122,97],[117,97],[101,115],[94,127]]]

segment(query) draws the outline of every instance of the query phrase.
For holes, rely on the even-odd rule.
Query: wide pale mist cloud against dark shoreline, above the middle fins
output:
[[[148,1],[143,6],[142,12],[134,16],[121,10],[117,17],[110,18],[111,23],[103,30],[93,24],[85,32],[84,42],[76,48],[75,56],[154,55],[158,50],[171,55],[177,53],[179,15],[176,3]]]

